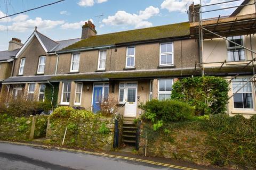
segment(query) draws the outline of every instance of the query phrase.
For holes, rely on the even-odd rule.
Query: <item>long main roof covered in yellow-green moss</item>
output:
[[[108,33],[105,35],[92,36],[82,39],[77,43],[68,46],[62,50],[77,49],[83,47],[97,47],[106,45],[115,45],[122,43],[132,43],[137,41],[155,40],[163,38],[174,38],[189,36],[189,22],[162,25],[122,32]]]

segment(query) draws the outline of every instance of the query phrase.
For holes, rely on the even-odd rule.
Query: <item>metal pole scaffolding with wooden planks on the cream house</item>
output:
[[[233,2],[237,2],[241,0],[231,0],[231,1],[226,1],[226,2],[220,2],[220,3],[214,3],[214,4],[202,4],[202,0],[200,0],[200,4],[194,6],[192,5],[193,11],[189,13],[190,15],[192,14],[193,22],[190,22],[190,34],[191,37],[198,38],[198,44],[199,44],[199,58],[200,61],[199,63],[195,63],[195,70],[198,69],[197,65],[199,66],[199,69],[202,69],[202,76],[205,75],[205,64],[217,64],[219,63],[219,69],[222,69],[223,66],[227,63],[232,63],[232,62],[237,62],[237,61],[227,61],[224,60],[222,62],[204,62],[203,58],[203,40],[204,39],[213,39],[213,38],[222,38],[228,41],[229,43],[232,43],[236,46],[242,47],[244,50],[247,50],[251,52],[251,60],[246,60],[241,63],[245,69],[245,67],[252,66],[252,77],[245,82],[245,84],[249,82],[253,82],[253,89],[256,92],[255,88],[255,67],[254,67],[254,62],[256,61],[256,57],[253,57],[253,54],[255,55],[256,52],[253,51],[252,49],[252,38],[251,35],[254,35],[256,33],[256,0],[254,0],[253,3],[250,3],[249,1],[244,1],[241,5],[238,6],[229,6],[229,7],[223,7],[223,8],[217,8],[213,10],[207,10],[203,11],[205,7],[210,7],[210,6],[215,6],[215,5],[221,5],[221,4],[231,4]],[[255,7],[255,13],[252,14],[245,14],[245,15],[238,15],[238,16],[222,16],[219,15],[218,18],[211,18],[211,19],[203,19],[202,14],[203,13],[208,13],[208,12],[213,12],[213,11],[220,11],[220,10],[227,10],[230,8],[241,8],[244,6],[249,6],[249,5],[254,5]],[[189,18],[191,17],[189,15]],[[198,21],[195,21],[195,20]],[[227,37],[230,36],[243,36],[247,35],[250,36],[250,48],[246,48],[243,45],[237,44],[234,41],[231,41],[227,39]],[[240,63],[239,63],[240,64]],[[236,74],[234,77],[230,77],[229,83],[231,83],[234,79],[238,77],[239,74]],[[245,84],[239,89],[241,90]],[[232,96],[229,97],[232,98],[239,90],[234,92]],[[218,108],[219,109],[219,108]],[[218,109],[215,112],[218,111]]]

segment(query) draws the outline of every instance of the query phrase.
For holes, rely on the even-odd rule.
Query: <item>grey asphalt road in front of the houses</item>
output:
[[[139,160],[129,160],[118,156],[105,156],[104,154],[88,154],[85,152],[60,150],[57,148],[43,148],[0,142],[0,169],[180,170],[189,168],[173,168],[172,166],[162,166],[154,163],[141,162]]]

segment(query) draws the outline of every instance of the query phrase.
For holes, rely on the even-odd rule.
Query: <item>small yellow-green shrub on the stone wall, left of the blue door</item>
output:
[[[69,106],[61,106],[54,110],[51,114],[51,118],[69,118],[71,113],[74,112],[75,109]]]

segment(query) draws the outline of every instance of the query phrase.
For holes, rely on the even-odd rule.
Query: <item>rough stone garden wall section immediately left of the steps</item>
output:
[[[119,120],[119,127],[121,127],[122,115],[115,115],[114,117],[94,116],[79,120],[50,119],[47,125],[46,142],[62,145],[67,128],[63,145],[109,151],[113,149],[115,119]],[[100,131],[102,126],[106,126],[109,132],[102,133]]]

